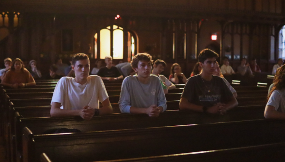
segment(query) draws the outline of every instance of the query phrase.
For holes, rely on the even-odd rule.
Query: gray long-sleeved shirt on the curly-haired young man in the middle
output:
[[[160,80],[151,75],[147,84],[138,80],[138,76],[128,76],[122,83],[119,108],[121,113],[130,113],[130,108],[148,108],[151,105],[166,110],[166,98]]]

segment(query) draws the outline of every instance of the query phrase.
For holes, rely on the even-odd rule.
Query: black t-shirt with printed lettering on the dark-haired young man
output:
[[[181,95],[192,104],[206,107],[212,107],[219,102],[225,104],[232,96],[233,93],[222,78],[213,76],[211,81],[206,81],[202,80],[200,75],[188,79]]]

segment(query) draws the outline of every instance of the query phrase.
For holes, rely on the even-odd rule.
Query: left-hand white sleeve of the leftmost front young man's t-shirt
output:
[[[64,94],[65,94],[64,87],[66,87],[66,81],[65,80],[66,79],[63,77],[57,82],[55,89],[54,89],[54,92],[53,92],[53,95],[52,95],[50,105],[53,102],[58,102],[58,103],[61,103],[63,105]]]

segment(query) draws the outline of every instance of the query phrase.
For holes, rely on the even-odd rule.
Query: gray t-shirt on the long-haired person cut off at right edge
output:
[[[285,89],[272,92],[266,106],[273,106],[276,111],[285,112]]]

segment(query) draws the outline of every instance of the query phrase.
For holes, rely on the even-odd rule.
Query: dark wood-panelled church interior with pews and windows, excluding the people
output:
[[[238,94],[238,107],[227,114],[179,110],[185,83],[175,84],[176,89],[165,94],[167,110],[158,118],[121,114],[115,108],[122,81],[104,81],[112,115],[87,121],[52,118],[50,102],[58,80],[35,80],[38,87],[30,91],[3,85],[0,161],[279,162],[285,158],[284,121],[264,117],[269,86],[276,78],[272,68],[285,59],[285,0],[0,0],[1,68],[8,57],[27,64],[36,60],[44,76],[57,58],[70,64],[78,53],[88,55],[90,69],[97,60],[105,66],[106,56],[117,65],[147,53],[154,61],[165,61],[161,74],[167,78],[177,63],[188,79],[204,49],[219,54],[220,65],[227,58],[236,73],[243,58],[248,63],[256,60],[260,68],[246,83],[238,75],[229,80],[225,75]],[[82,132],[45,134],[58,128]]]

